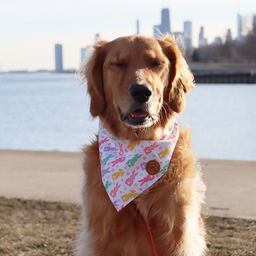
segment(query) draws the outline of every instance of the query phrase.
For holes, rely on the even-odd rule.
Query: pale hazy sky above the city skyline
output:
[[[106,40],[136,33],[153,36],[161,9],[169,8],[172,31],[183,31],[190,20],[193,46],[200,27],[212,42],[225,38],[228,28],[237,36],[237,14],[246,20],[256,14],[255,0],[1,0],[0,71],[54,70],[54,45],[63,47],[63,68],[78,68],[84,46],[95,34]],[[248,22],[247,22],[248,23]]]

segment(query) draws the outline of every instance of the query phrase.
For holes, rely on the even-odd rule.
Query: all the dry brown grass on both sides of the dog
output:
[[[211,256],[256,255],[256,223],[209,217]],[[0,255],[72,255],[79,230],[74,204],[0,198]]]

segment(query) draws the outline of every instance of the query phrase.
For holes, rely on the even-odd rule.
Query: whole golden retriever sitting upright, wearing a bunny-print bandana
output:
[[[99,39],[79,73],[100,129],[84,148],[76,255],[204,255],[205,186],[191,132],[178,129],[175,121],[194,78],[175,39]],[[104,145],[110,151],[101,150]],[[137,190],[146,183],[152,184]],[[120,191],[123,185],[127,190]]]

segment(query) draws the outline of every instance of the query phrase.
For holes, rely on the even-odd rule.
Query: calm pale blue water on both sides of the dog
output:
[[[255,99],[255,85],[197,85],[179,118],[196,154],[256,160]],[[0,74],[0,148],[80,151],[96,130],[74,74]]]

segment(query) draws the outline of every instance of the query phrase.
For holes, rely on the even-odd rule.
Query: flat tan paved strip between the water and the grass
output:
[[[82,153],[0,150],[0,196],[79,203]],[[203,211],[256,220],[256,162],[200,159]]]

